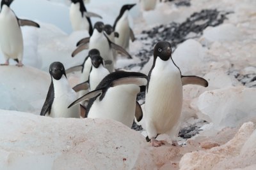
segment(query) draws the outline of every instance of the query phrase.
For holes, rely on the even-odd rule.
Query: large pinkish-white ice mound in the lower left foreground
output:
[[[136,169],[152,159],[145,138],[119,122],[0,115],[0,169]]]

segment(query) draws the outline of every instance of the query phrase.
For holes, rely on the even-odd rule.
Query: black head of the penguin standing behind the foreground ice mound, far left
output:
[[[65,68],[61,62],[52,62],[49,67],[49,73],[55,80],[60,80],[62,75],[67,78]]]

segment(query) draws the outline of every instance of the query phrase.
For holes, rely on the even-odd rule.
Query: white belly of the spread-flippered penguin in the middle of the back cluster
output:
[[[102,34],[99,36],[95,36],[94,32],[92,37],[90,38],[90,44],[89,44],[89,49],[92,50],[93,48],[96,48],[100,52],[100,56],[104,60],[111,60],[113,61],[113,51],[112,48],[110,48],[108,39]],[[114,70],[114,64],[109,64],[106,66],[109,72],[113,72]]]

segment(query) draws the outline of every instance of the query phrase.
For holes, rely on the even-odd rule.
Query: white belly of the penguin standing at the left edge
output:
[[[4,6],[4,8],[6,7]],[[2,9],[0,13],[0,44],[7,59],[22,60],[22,32],[14,13],[8,9]]]

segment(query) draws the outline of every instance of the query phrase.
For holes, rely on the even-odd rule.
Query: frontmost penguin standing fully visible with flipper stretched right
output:
[[[168,41],[159,41],[154,48],[154,62],[148,73],[145,96],[145,126],[147,141],[152,146],[164,145],[157,141],[158,134],[172,132],[179,123],[182,110],[182,85],[208,86],[204,78],[183,76],[173,62],[172,48]]]

